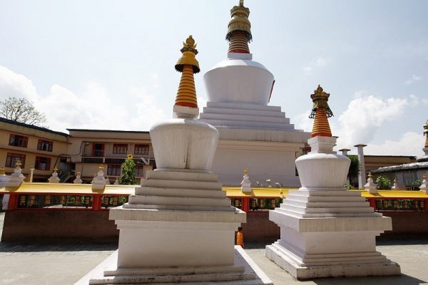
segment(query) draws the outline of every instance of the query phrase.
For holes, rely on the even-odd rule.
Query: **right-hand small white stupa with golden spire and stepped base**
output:
[[[311,95],[311,152],[296,160],[302,187],[270,211],[281,238],[266,247],[266,257],[297,279],[400,274],[398,264],[376,251],[375,237],[392,229],[391,218],[343,187],[350,159],[332,150],[329,96],[320,86]]]

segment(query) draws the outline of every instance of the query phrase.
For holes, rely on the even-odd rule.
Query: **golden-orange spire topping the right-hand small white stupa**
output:
[[[330,97],[329,93],[325,93],[322,90],[322,87],[318,85],[317,90],[314,90],[314,93],[310,95],[312,102],[314,103],[312,107],[312,113],[309,118],[315,118],[314,125],[312,127],[312,138],[317,136],[322,137],[331,137],[332,131],[330,130],[330,124],[328,119],[333,113],[328,106],[328,98]]]

